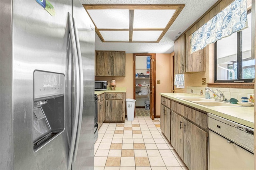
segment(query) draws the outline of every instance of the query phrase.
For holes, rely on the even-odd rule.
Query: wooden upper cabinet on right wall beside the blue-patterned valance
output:
[[[190,39],[186,33],[174,43],[175,74],[205,71],[205,48],[190,53]]]

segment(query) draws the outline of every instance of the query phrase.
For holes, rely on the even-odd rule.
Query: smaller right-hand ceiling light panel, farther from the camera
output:
[[[132,41],[157,41],[162,31],[134,31],[132,34]]]

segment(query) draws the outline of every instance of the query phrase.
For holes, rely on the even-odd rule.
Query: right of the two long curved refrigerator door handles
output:
[[[79,116],[78,116],[78,127],[77,127],[77,135],[76,135],[76,144],[73,156],[73,163],[76,161],[77,151],[78,151],[78,143],[80,138],[81,132],[81,125],[82,125],[82,115],[83,115],[83,103],[84,103],[84,76],[83,76],[83,65],[82,65],[82,55],[80,49],[80,42],[78,36],[78,29],[76,27],[75,19],[73,18],[73,26],[76,38],[76,47],[78,53],[78,65],[79,65],[79,75],[80,75],[80,100],[79,100]]]

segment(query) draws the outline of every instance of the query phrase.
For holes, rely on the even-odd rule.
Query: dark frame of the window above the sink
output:
[[[247,11],[247,14],[251,13],[251,9]],[[232,80],[217,80],[217,43],[214,43],[214,83],[251,83],[253,79],[243,79],[243,67],[242,67],[242,31],[237,32],[237,55],[236,55],[236,62],[237,62],[237,79]],[[251,49],[252,50],[252,49]]]

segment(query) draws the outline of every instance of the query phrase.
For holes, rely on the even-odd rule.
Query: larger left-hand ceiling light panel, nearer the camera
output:
[[[87,10],[98,29],[128,29],[129,10]]]

